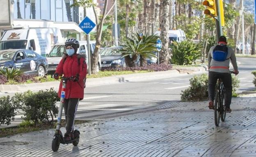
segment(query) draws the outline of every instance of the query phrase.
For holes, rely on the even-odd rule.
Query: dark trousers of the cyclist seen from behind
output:
[[[208,85],[208,95],[209,100],[213,101],[215,97],[215,86],[218,78],[220,78],[225,87],[225,102],[226,107],[230,107],[231,98],[232,98],[232,78],[230,73],[217,73],[210,71],[209,72],[209,85]]]

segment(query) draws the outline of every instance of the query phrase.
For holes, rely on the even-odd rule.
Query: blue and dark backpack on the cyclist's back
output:
[[[213,49],[213,60],[218,62],[224,62],[225,60],[228,60],[228,47],[226,45],[217,45]]]

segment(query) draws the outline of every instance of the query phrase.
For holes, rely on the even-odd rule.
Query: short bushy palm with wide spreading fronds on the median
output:
[[[126,65],[129,67],[136,66],[136,61],[140,57],[140,66],[147,64],[146,58],[156,57],[154,51],[156,51],[155,42],[157,40],[155,35],[144,35],[142,38],[139,33],[136,33],[132,38],[126,38],[123,42],[123,49],[120,52],[125,57]]]

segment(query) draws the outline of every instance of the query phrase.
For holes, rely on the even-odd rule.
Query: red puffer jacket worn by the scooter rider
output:
[[[78,59],[80,60],[80,65],[78,64]],[[85,56],[80,54],[74,54],[72,56],[63,55],[62,60],[59,62],[55,73],[58,73],[59,76],[64,75],[64,77],[76,76],[78,74],[78,82],[67,82],[65,99],[80,98],[80,100],[82,100],[84,98],[84,79],[87,74],[87,64],[85,62]],[[62,82],[60,82],[59,84],[59,97],[61,94],[61,90]]]

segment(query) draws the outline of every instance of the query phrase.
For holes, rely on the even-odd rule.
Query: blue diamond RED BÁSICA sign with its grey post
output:
[[[94,29],[96,24],[87,16],[80,22],[79,27],[86,33],[87,51],[88,51],[88,73],[91,75],[91,51],[90,51],[90,35],[89,33]]]

